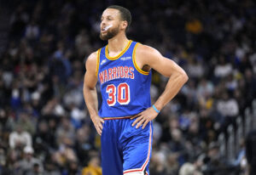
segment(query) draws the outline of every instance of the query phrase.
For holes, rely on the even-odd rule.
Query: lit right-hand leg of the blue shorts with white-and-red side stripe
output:
[[[136,128],[125,126],[122,133],[123,154],[124,154],[124,174],[125,175],[148,175],[148,164],[151,157],[153,127],[149,122],[147,127]]]

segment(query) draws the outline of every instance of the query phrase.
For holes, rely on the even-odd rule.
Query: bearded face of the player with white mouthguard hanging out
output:
[[[120,14],[119,10],[107,8],[102,14],[100,38],[107,41],[119,33]]]

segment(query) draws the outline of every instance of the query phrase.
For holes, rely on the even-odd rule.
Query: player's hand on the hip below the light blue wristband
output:
[[[156,116],[158,115],[158,113],[152,108],[148,108],[147,110],[144,110],[141,113],[138,113],[135,116],[131,117],[131,120],[134,118],[137,118],[135,121],[133,121],[132,123],[132,127],[134,127],[136,125],[136,128],[139,128],[143,125],[143,129],[147,126],[149,121],[152,121]]]

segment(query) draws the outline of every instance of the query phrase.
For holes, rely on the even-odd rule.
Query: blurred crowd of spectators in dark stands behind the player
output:
[[[0,57],[0,174],[100,175],[100,137],[84,104],[84,63],[106,42],[102,10],[129,8],[127,36],[181,65],[189,82],[154,121],[151,175],[242,173],[218,134],[256,97],[253,0],[27,0],[6,2]],[[152,102],[167,78],[153,74]],[[100,96],[100,93],[99,93]]]

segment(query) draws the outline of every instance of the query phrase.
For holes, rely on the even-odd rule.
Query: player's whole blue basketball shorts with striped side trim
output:
[[[102,129],[103,175],[148,175],[151,157],[152,121],[143,127],[132,127],[136,119],[104,119]]]

